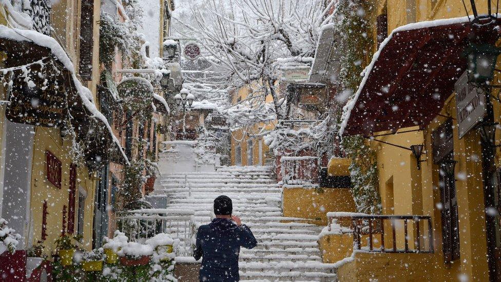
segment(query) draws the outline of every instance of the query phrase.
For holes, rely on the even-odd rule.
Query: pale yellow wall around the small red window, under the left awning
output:
[[[63,205],[68,207],[69,194],[69,171],[72,163],[69,158],[70,143],[62,141],[60,130],[57,128],[35,127],[33,145],[33,164],[31,174],[31,229],[33,243],[41,240],[43,203],[47,200],[47,239],[44,242],[46,252],[55,250],[55,240],[61,235],[63,222]],[[47,180],[45,152],[50,151],[62,162],[62,187],[57,189]],[[93,211],[94,211],[94,187],[95,181],[91,180],[86,167],[78,167],[76,193],[75,193],[75,234],[78,227],[78,190],[81,186],[86,192],[84,232],[81,247],[86,250],[92,249]],[[66,208],[68,215],[68,208]],[[67,224],[66,224],[67,226]]]

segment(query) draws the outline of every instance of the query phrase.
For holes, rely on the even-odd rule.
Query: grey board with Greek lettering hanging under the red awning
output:
[[[465,71],[454,85],[459,139],[463,138],[486,115],[486,93],[468,83]]]

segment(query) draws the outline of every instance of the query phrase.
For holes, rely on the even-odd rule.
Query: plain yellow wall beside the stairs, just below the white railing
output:
[[[318,225],[327,225],[328,212],[355,212],[355,201],[350,189],[284,187],[283,216],[314,220]]]

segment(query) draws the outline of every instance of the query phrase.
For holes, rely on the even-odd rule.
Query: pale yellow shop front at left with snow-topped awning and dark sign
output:
[[[27,250],[37,243],[49,258],[62,234],[80,234],[81,247],[92,248],[95,172],[128,160],[59,43],[5,26],[0,34],[2,218],[22,235],[14,254],[0,256],[0,272],[23,280]]]

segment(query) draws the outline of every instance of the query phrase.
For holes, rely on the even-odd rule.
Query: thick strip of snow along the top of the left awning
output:
[[[125,160],[125,162],[128,164],[129,160],[127,158],[127,155],[125,155],[125,152],[123,151],[123,148],[121,146],[120,141],[118,138],[113,134],[113,130],[111,129],[111,126],[108,123],[108,120],[106,117],[98,110],[98,108],[95,106],[94,102],[92,101],[92,92],[89,90],[89,88],[84,87],[80,80],[76,78],[75,74],[75,69],[73,66],[73,63],[71,62],[70,58],[66,54],[65,50],[55,39],[53,39],[50,36],[44,35],[40,32],[36,32],[34,30],[25,30],[25,29],[17,29],[17,28],[8,28],[4,25],[0,25],[0,37],[10,39],[10,40],[15,40],[15,41],[28,41],[32,42],[34,44],[49,48],[54,55],[54,57],[59,60],[63,66],[70,72],[71,78],[73,79],[73,83],[76,87],[76,92],[80,96],[82,103],[84,106],[91,112],[92,116],[95,118],[99,119],[101,122],[103,122],[106,126],[106,128],[109,131],[109,134],[111,135],[113,142],[117,145],[119,148],[120,152],[122,153],[122,156]]]

